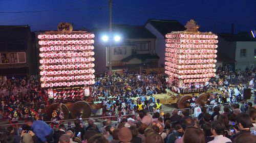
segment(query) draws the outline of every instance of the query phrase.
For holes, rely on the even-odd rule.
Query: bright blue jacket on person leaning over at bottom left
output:
[[[46,136],[52,133],[52,128],[40,120],[34,121],[31,129],[42,142],[46,142]]]

